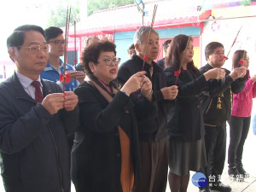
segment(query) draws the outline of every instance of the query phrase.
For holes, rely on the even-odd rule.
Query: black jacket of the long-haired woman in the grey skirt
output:
[[[177,80],[178,94],[175,107],[169,113],[167,125],[168,139],[173,137],[183,141],[196,141],[204,135],[204,122],[201,111],[201,91],[207,90],[207,80],[204,75],[182,71],[178,78],[175,72],[178,69],[166,68],[167,84],[173,85]]]

